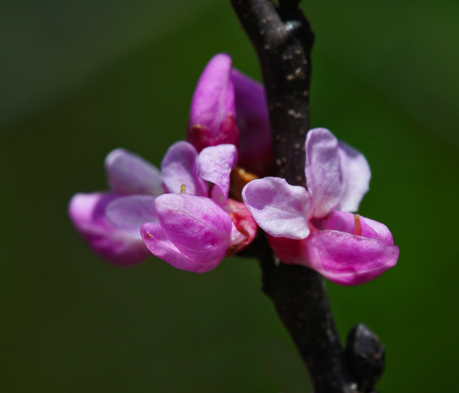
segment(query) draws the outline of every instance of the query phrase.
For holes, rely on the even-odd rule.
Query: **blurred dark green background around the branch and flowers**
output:
[[[372,169],[360,213],[400,246],[368,284],[327,283],[341,337],[386,345],[388,392],[459,382],[459,2],[304,1],[316,32],[312,126]],[[0,4],[0,391],[311,390],[254,260],[196,275],[152,257],[120,269],[85,246],[70,197],[106,188],[124,147],[159,165],[185,138],[217,52],[259,79],[225,0]]]

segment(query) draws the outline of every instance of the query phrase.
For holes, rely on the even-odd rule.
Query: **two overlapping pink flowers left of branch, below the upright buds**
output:
[[[208,147],[198,155],[179,141],[159,172],[117,149],[106,158],[113,191],[74,195],[69,215],[90,246],[114,263],[137,263],[151,251],[180,269],[208,271],[256,234],[246,206],[228,200],[236,161],[234,145]]]

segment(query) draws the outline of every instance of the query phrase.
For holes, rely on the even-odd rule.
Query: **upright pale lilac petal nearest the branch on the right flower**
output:
[[[340,203],[344,190],[338,139],[326,128],[314,128],[304,146],[304,173],[314,200],[314,217],[324,217]]]

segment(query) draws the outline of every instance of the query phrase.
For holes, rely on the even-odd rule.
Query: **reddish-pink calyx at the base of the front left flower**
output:
[[[257,223],[253,219],[247,206],[234,199],[228,199],[223,210],[228,212],[232,221],[231,246],[226,250],[226,255],[234,255],[252,243],[257,235]]]

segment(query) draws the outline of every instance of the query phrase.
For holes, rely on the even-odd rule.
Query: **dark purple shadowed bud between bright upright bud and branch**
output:
[[[263,84],[233,68],[236,120],[241,134],[239,166],[264,177],[273,165],[268,102]]]

